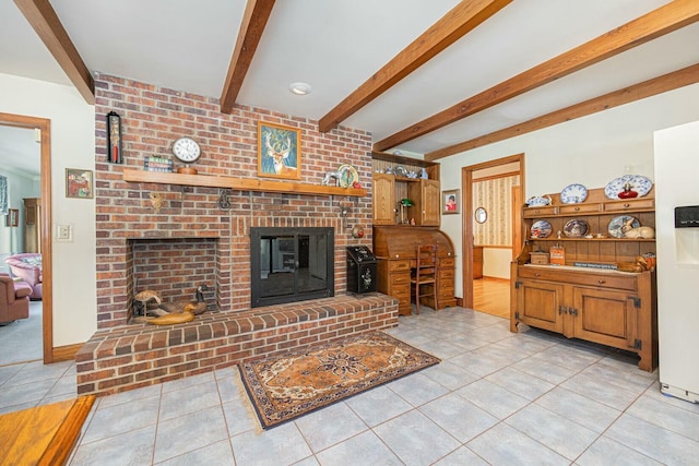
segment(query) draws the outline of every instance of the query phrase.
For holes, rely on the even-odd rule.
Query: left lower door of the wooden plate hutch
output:
[[[564,286],[546,282],[520,282],[517,311],[528,325],[562,333]]]

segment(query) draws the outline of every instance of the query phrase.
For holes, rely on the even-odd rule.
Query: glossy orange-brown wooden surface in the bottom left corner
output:
[[[95,396],[0,416],[0,465],[63,465],[80,437]]]

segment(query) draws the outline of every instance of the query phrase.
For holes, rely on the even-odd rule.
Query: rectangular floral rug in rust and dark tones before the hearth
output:
[[[400,339],[374,332],[239,367],[266,429],[439,362]]]

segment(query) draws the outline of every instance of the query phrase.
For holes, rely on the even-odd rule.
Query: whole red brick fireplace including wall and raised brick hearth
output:
[[[398,324],[398,301],[346,292],[345,247],[371,244],[371,138],[340,127],[319,133],[316,121],[236,106],[109,75],[95,79],[97,327],[75,356],[79,394],[109,394],[274,356],[319,342]],[[121,117],[123,164],[106,157],[105,116]],[[301,131],[304,184],[352,164],[366,198],[127,182],[146,156],[170,158],[173,142],[196,139],[199,175],[258,179],[257,129],[265,121]],[[162,199],[159,208],[152,203]],[[341,212],[348,212],[346,218]],[[352,227],[368,232],[352,238]],[[250,309],[251,228],[331,228],[334,297]],[[191,299],[210,286],[209,312],[180,325],[130,323],[142,289],[164,299]]]

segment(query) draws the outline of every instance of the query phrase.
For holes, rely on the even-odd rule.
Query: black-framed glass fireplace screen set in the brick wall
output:
[[[335,295],[332,227],[250,228],[252,308]]]

